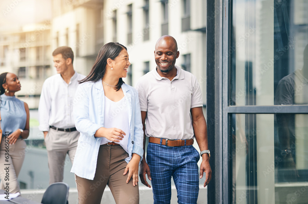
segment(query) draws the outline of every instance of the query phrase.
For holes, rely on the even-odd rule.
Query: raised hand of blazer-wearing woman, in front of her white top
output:
[[[113,142],[120,142],[123,139],[123,135],[126,135],[125,132],[118,128],[99,128],[94,136],[95,137],[105,137]]]

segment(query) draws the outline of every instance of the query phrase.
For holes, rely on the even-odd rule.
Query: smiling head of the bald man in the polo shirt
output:
[[[155,45],[155,62],[162,73],[168,73],[175,68],[176,58],[179,57],[175,40],[171,37],[163,37]]]

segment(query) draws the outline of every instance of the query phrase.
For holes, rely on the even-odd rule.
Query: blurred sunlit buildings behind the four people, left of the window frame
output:
[[[30,2],[30,3],[29,3]],[[206,104],[206,1],[203,0],[29,0],[0,4],[7,22],[0,27],[0,72],[16,73],[22,89],[16,92],[29,104],[30,136],[27,156],[18,180],[22,188],[48,186],[47,153],[38,131],[38,102],[46,78],[56,74],[52,52],[70,46],[74,69],[87,76],[100,48],[119,42],[128,48],[131,66],[125,83],[137,80],[156,67],[155,43],[173,36],[180,57],[176,65],[198,79]],[[29,5],[30,4],[30,5]],[[34,8],[32,8],[34,7]],[[32,9],[33,13],[29,14]],[[16,16],[19,15],[19,18]],[[20,18],[30,15],[30,19]],[[44,17],[43,17],[44,16]],[[16,19],[15,19],[16,18]],[[198,149],[197,145],[196,148]],[[39,168],[38,168],[39,165]],[[64,182],[74,186],[67,160]],[[200,184],[204,183],[204,179]],[[206,189],[203,189],[206,190]],[[206,202],[206,194],[202,193]],[[176,195],[175,195],[176,196]]]

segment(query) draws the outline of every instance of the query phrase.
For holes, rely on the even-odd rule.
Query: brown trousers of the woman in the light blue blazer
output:
[[[126,183],[123,175],[128,153],[120,145],[101,145],[97,158],[94,180],[76,175],[79,204],[100,204],[106,185],[109,186],[116,204],[139,203],[139,187],[133,186],[132,178]]]

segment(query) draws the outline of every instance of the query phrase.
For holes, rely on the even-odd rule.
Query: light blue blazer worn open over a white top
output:
[[[128,101],[128,121],[130,141],[128,142],[128,163],[132,153],[143,157],[143,126],[138,92],[135,88],[123,84],[124,97]],[[78,146],[71,169],[72,173],[85,179],[94,179],[97,156],[101,137],[94,137],[95,132],[104,127],[105,94],[102,81],[85,82],[78,86],[74,99],[74,120],[80,132]],[[128,134],[127,134],[128,135]]]

